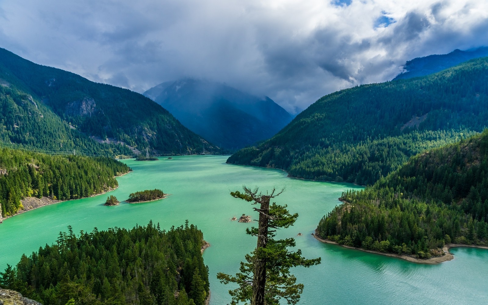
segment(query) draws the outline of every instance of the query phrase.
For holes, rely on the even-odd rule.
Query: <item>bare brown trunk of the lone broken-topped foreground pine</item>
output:
[[[254,278],[252,281],[251,305],[264,305],[264,286],[266,285],[266,256],[260,253],[268,242],[269,200],[270,196],[263,196],[259,211],[258,244],[256,247]]]

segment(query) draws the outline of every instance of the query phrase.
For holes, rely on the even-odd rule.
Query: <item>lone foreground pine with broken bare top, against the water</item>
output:
[[[243,193],[235,191],[230,194],[252,204],[259,203],[259,208],[254,208],[259,212],[258,228],[246,229],[247,234],[258,237],[257,246],[251,255],[246,254],[246,262],[241,262],[239,268],[240,273],[234,277],[219,272],[217,278],[224,284],[233,282],[239,285],[229,290],[232,305],[246,301],[250,301],[251,305],[279,305],[281,298],[288,304],[296,304],[300,300],[303,284],[295,284],[296,278],[290,274],[289,269],[320,264],[321,259],[305,259],[300,249],[288,251],[288,247],[295,246],[293,238],[274,239],[277,229],[293,225],[298,217],[297,213],[290,214],[286,205],[270,204],[270,200],[283,193],[284,189],[276,191],[273,188],[271,193],[266,194],[259,192],[258,187],[251,190],[243,186],[243,189]]]

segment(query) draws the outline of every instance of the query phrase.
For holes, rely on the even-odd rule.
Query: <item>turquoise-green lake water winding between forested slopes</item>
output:
[[[227,304],[229,285],[220,284],[217,272],[234,274],[255,239],[245,234],[251,224],[230,219],[252,214],[249,203],[234,199],[229,190],[259,185],[263,190],[286,187],[276,198],[299,218],[279,237],[295,237],[305,257],[322,257],[322,264],[296,268],[305,284],[299,304],[487,304],[488,250],[454,248],[455,259],[437,265],[414,264],[336,245],[322,244],[310,234],[320,218],[339,203],[347,183],[319,183],[290,179],[280,170],[225,164],[225,157],[185,156],[156,162],[126,161],[134,171],[118,178],[119,188],[97,197],[52,204],[0,224],[0,270],[16,264],[22,253],[56,241],[72,225],[75,232],[93,227],[133,227],[149,220],[162,228],[188,219],[211,246],[203,257],[210,268],[211,305]],[[108,195],[119,200],[129,193],[160,188],[171,194],[151,203],[103,206]],[[254,215],[257,216],[257,215]],[[255,217],[256,218],[256,217]],[[255,223],[256,224],[256,223]],[[296,236],[299,232],[303,236]]]

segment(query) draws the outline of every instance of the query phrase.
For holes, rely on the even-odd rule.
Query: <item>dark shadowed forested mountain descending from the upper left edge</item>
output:
[[[0,79],[44,103],[86,136],[172,153],[218,150],[160,105],[127,89],[41,66],[0,49]],[[22,136],[25,133],[22,134]]]

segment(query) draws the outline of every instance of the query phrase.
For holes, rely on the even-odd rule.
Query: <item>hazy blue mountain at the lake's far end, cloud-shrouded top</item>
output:
[[[168,109],[190,130],[230,150],[268,139],[292,119],[267,97],[258,98],[212,81],[167,81],[144,95]]]

